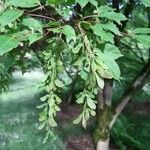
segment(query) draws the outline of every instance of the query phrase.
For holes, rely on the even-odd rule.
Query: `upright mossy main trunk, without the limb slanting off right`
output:
[[[94,131],[96,150],[109,150],[109,124],[112,120],[111,101],[113,80],[104,79],[103,90],[99,90],[97,97],[97,118]]]

